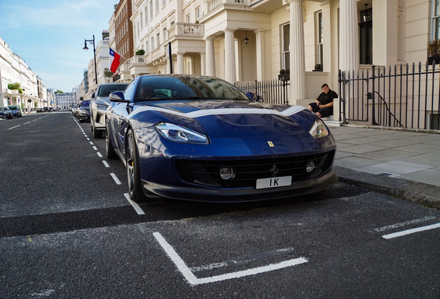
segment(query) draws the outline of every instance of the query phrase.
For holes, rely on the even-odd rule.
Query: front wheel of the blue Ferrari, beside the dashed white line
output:
[[[129,185],[129,197],[132,201],[143,202],[147,200],[142,185],[140,185],[140,167],[138,158],[138,147],[134,140],[133,130],[130,129],[127,136],[127,181]]]

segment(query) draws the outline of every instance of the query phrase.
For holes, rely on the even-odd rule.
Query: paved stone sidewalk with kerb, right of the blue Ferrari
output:
[[[440,134],[330,127],[339,180],[440,208]]]

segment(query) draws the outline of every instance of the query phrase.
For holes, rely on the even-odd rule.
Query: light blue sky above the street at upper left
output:
[[[48,89],[64,92],[82,82],[102,30],[118,0],[0,0],[0,36]]]

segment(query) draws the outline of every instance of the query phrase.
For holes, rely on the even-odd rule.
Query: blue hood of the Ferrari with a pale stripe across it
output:
[[[134,119],[174,123],[219,138],[299,135],[315,120],[302,106],[223,100],[149,102],[134,107]]]

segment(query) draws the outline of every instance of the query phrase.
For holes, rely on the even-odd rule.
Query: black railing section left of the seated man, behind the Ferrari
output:
[[[246,83],[236,83],[235,87],[243,91],[244,93],[252,91],[259,93],[263,102],[270,104],[288,104],[288,86],[290,83],[286,80],[265,80]]]

